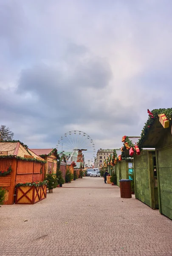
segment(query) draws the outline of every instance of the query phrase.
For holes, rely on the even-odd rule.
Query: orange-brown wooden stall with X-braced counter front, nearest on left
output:
[[[46,198],[44,166],[45,161],[23,143],[0,142],[0,187],[6,189],[4,203],[14,204],[15,200],[16,204],[34,204]]]

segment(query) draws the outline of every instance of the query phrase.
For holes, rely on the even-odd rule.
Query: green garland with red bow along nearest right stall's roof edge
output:
[[[153,109],[152,111],[148,110],[148,113],[149,118],[147,122],[144,124],[144,127],[141,131],[141,138],[138,140],[138,147],[142,146],[145,136],[148,134],[149,129],[152,127],[155,119],[158,117],[159,114],[164,113],[169,120],[172,119],[172,108]]]

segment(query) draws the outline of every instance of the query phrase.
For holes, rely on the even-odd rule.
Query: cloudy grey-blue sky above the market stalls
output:
[[[171,108],[171,0],[1,0],[0,125],[30,148],[81,130],[98,148]]]

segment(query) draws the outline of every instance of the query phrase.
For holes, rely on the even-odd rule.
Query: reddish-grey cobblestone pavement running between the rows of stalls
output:
[[[37,204],[0,208],[0,256],[36,255],[172,256],[172,221],[84,177]]]

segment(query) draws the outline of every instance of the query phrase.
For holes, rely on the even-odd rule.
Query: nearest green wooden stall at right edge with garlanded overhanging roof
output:
[[[159,211],[172,219],[172,108],[148,110],[140,148],[155,148]]]

